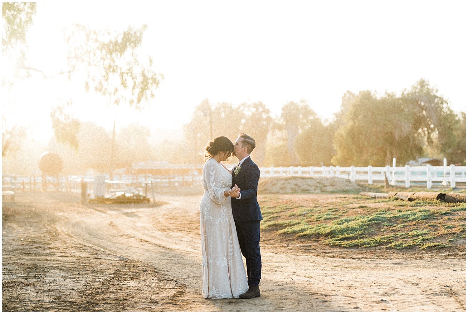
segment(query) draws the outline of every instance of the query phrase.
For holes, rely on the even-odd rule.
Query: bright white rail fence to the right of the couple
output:
[[[374,181],[384,181],[387,175],[390,184],[401,183],[409,188],[410,183],[426,183],[431,189],[432,183],[450,185],[466,183],[466,166],[404,166],[404,167],[263,167],[260,168],[262,177],[272,176],[334,176],[350,179],[351,181],[366,180],[368,184]]]

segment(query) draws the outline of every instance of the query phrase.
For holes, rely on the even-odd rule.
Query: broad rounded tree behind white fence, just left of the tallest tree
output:
[[[422,143],[406,127],[410,119],[395,95],[378,98],[370,91],[359,92],[336,131],[332,163],[384,166],[392,156],[408,160],[421,153]]]

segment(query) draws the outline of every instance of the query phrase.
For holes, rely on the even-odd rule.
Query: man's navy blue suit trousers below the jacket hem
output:
[[[247,282],[250,286],[260,283],[262,257],[260,256],[260,220],[235,221],[237,238],[247,264]]]

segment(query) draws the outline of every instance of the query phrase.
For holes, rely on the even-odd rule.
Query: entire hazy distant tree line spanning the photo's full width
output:
[[[212,105],[205,99],[185,124],[183,139],[156,142],[158,134],[138,124],[117,131],[114,167],[148,160],[200,164],[211,138],[224,135],[234,142],[240,132],[256,139],[252,159],[264,167],[385,166],[394,157],[401,165],[420,157],[445,157],[449,164],[465,165],[465,125],[465,112],[455,113],[425,80],[401,95],[348,91],[332,121],[323,121],[305,101],[287,102],[281,114],[272,117],[263,102]],[[64,174],[86,173],[89,168],[108,172],[112,133],[91,122],[80,122],[76,128],[73,146],[57,139],[57,134],[45,149],[26,136],[17,137],[15,153],[4,159],[4,171],[7,166],[17,173],[32,173],[40,154],[49,150],[64,156]],[[3,140],[9,145],[7,138]]]

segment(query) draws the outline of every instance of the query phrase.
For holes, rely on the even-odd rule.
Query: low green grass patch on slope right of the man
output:
[[[327,197],[260,197],[262,228],[344,248],[439,249],[466,234],[465,204]]]

